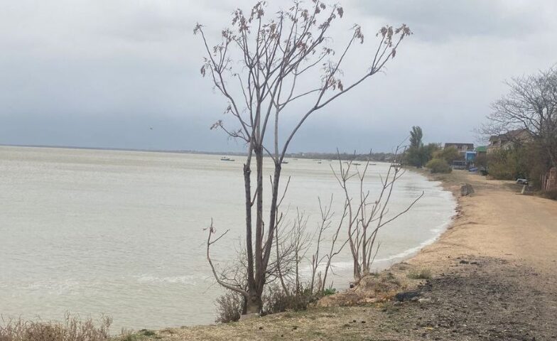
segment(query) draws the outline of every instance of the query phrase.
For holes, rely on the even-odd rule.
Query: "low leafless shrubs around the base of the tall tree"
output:
[[[276,255],[271,260],[267,271],[266,281],[271,285],[266,287],[262,296],[263,305],[260,311],[262,315],[280,313],[286,310],[305,310],[310,303],[317,301],[324,295],[325,278],[322,278],[321,273],[317,271],[321,265],[325,264],[325,274],[327,274],[330,270],[332,257],[340,252],[341,248],[335,249],[335,242],[339,237],[342,219],[344,218],[343,215],[341,223],[335,225],[336,230],[332,236],[331,252],[318,258],[318,250],[324,239],[322,237],[323,232],[332,226],[330,220],[333,213],[330,207],[331,204],[323,206],[320,202],[321,221],[318,228],[313,231],[308,229],[308,217],[305,212],[296,210],[296,217],[293,217],[292,220],[283,220],[284,214],[277,215],[277,217],[281,217],[281,221],[277,223],[276,228],[276,242],[274,245]],[[307,256],[315,239],[317,250],[314,254]],[[311,274],[302,276],[301,266],[307,263],[310,263]],[[219,276],[227,283],[241,286],[241,283],[245,283],[242,278],[245,278],[246,272],[246,257],[243,247],[240,245],[236,259],[229,262]],[[327,293],[331,292],[333,291],[327,291]],[[217,322],[228,323],[239,320],[240,315],[246,308],[243,297],[234,291],[228,291],[217,298]]]

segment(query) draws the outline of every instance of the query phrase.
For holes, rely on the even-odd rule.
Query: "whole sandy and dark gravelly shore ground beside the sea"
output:
[[[377,277],[396,283],[391,295],[360,289],[357,305],[129,340],[557,340],[557,202],[464,171],[435,179],[455,193],[470,183],[475,193],[459,198],[437,242]],[[431,277],[406,276],[421,269]]]

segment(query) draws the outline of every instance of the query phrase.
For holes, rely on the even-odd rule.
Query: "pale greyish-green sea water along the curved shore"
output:
[[[0,315],[60,320],[112,316],[113,330],[212,323],[215,284],[205,257],[206,228],[229,233],[212,247],[218,269],[229,264],[245,234],[242,156],[75,148],[0,147]],[[272,174],[265,161],[265,178]],[[343,196],[332,169],[338,161],[290,159],[281,211],[286,230],[297,210],[313,232],[318,197],[332,227]],[[362,171],[364,164],[352,166]],[[370,165],[370,198],[389,165]],[[357,178],[349,189],[357,200]],[[268,187],[267,187],[268,188]],[[396,182],[388,215],[416,205],[379,233],[374,269],[383,269],[433,242],[450,223],[455,201],[439,183],[406,172]],[[269,193],[265,193],[269,199]],[[342,229],[340,239],[346,238]],[[315,244],[314,244],[315,245]],[[322,251],[324,252],[324,251]],[[323,253],[322,253],[323,254]],[[302,261],[307,272],[309,260]],[[348,247],[333,259],[332,286],[352,280]]]

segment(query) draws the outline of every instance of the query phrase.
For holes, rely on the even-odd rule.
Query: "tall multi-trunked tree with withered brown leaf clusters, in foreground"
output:
[[[332,23],[342,18],[342,7],[327,6],[319,0],[306,3],[295,1],[289,9],[276,12],[270,20],[265,19],[265,9],[265,2],[259,1],[248,13],[241,9],[234,11],[232,26],[222,30],[222,39],[214,46],[210,46],[202,25],[198,24],[194,29],[194,33],[200,34],[207,53],[201,73],[210,77],[215,90],[227,99],[226,112],[238,124],[237,128],[231,129],[223,121],[217,121],[212,128],[222,129],[232,138],[244,141],[247,145],[247,159],[244,163],[246,289],[222,281],[213,271],[222,286],[247,298],[247,313],[261,310],[261,293],[266,284],[269,259],[273,253],[281,163],[288,146],[313,113],[377,72],[382,72],[389,60],[396,55],[401,41],[411,34],[406,25],[381,28],[377,33],[377,49],[367,58],[367,69],[362,70],[362,74],[355,80],[345,84],[341,80],[341,66],[355,44],[364,42],[364,34],[360,26],[355,25],[339,54],[330,48],[328,32]],[[313,78],[315,74],[318,74],[317,78]],[[303,85],[311,83],[313,87],[303,88]],[[291,107],[289,104],[298,101],[309,104],[303,111],[297,108],[295,112],[301,112],[301,116],[293,129],[286,132],[286,138],[281,140],[279,120],[288,112]],[[269,145],[266,144],[268,134],[272,134]],[[264,216],[263,200],[265,153],[274,163],[267,219]],[[253,159],[255,189],[252,193]],[[254,206],[255,222],[252,220]],[[210,229],[210,233],[212,231]],[[217,239],[214,242],[216,241]],[[214,242],[207,242],[208,259],[208,249]]]

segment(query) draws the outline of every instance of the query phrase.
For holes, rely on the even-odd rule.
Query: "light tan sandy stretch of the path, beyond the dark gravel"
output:
[[[520,187],[512,182],[486,180],[463,171],[434,178],[455,193],[460,183],[470,183],[475,193],[460,198],[460,217],[409,263],[443,267],[447,256],[487,256],[517,261],[556,276],[556,201],[519,195],[515,191]]]

